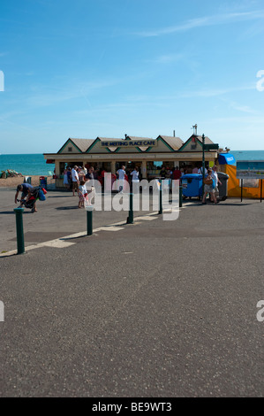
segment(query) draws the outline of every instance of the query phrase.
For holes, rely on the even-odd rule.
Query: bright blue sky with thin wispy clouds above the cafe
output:
[[[1,0],[0,153],[194,124],[263,150],[263,41],[263,0]]]

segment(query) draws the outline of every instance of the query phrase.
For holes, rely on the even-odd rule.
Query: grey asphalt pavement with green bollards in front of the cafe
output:
[[[77,197],[48,195],[17,255],[0,189],[1,397],[263,397],[260,201],[94,212],[87,236]]]

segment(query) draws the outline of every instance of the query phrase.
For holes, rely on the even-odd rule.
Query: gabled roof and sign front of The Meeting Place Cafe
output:
[[[214,144],[208,137],[207,145]],[[207,146],[208,147],[208,146]],[[217,150],[205,151],[206,166],[217,160]],[[202,163],[202,137],[192,135],[185,143],[176,136],[159,135],[121,138],[96,137],[96,139],[69,138],[57,153],[44,153],[46,163],[55,164],[56,188],[64,188],[66,166],[93,166],[98,171],[116,174],[121,166],[131,170],[139,168],[141,178],[151,181],[159,178],[162,166],[173,170]]]

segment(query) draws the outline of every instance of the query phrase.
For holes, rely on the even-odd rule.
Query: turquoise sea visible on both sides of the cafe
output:
[[[237,160],[264,160],[264,150],[230,150]],[[0,175],[7,169],[22,173],[24,176],[49,176],[54,173],[55,165],[46,164],[41,153],[28,155],[0,155]]]

